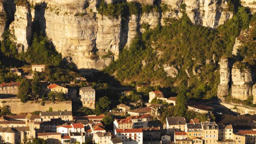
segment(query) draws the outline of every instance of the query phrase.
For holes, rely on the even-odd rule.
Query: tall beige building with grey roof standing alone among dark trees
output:
[[[83,107],[95,109],[95,90],[91,86],[80,88],[79,95]]]

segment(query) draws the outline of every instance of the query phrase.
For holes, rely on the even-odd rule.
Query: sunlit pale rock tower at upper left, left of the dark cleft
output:
[[[14,21],[10,24],[11,39],[16,44],[18,52],[26,52],[32,37],[32,16],[30,4],[16,6]]]

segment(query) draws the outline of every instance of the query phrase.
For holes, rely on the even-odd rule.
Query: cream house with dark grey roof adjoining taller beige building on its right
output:
[[[201,137],[203,136],[202,124],[186,124],[185,132],[187,132],[188,138]]]

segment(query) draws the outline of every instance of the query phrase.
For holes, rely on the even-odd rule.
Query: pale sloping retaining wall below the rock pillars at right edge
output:
[[[229,108],[233,112],[238,112],[240,114],[256,114],[256,108],[251,107],[245,107],[245,106],[239,106],[237,104],[230,104],[230,103],[224,103],[220,102],[222,106],[225,106]]]

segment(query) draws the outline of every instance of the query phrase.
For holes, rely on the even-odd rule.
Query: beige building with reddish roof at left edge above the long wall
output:
[[[20,82],[3,82],[0,84],[0,98],[8,98],[16,96],[19,92]]]

